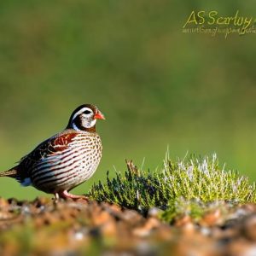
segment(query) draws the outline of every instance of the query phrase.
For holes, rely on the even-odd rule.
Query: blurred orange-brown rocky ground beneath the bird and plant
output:
[[[0,199],[0,255],[256,255],[256,205],[162,223],[96,201]]]

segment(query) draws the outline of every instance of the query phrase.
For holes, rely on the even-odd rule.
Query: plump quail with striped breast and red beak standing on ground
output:
[[[96,106],[84,104],[76,108],[66,129],[40,143],[26,154],[18,165],[0,177],[13,177],[22,186],[32,185],[55,198],[83,197],[70,189],[88,180],[102,158],[102,141],[96,133],[96,119],[105,119]]]

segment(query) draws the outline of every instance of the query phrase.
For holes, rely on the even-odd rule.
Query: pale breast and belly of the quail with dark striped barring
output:
[[[93,175],[102,157],[101,139],[96,134],[81,133],[61,153],[45,157],[32,166],[30,176],[36,188],[49,193],[60,187],[68,190]]]

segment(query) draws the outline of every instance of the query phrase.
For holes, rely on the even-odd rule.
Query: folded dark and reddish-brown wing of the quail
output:
[[[31,153],[21,158],[19,165],[15,167],[15,169],[17,169],[16,178],[22,182],[26,177],[30,177],[32,166],[44,160],[44,158],[60,154],[61,151],[68,147],[68,143],[70,143],[76,135],[76,132],[64,131],[40,143]]]

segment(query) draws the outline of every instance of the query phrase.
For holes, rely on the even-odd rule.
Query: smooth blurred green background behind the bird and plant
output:
[[[125,158],[145,168],[218,154],[256,178],[255,34],[183,33],[192,10],[256,16],[252,1],[2,1],[1,171],[61,131],[73,109],[94,103],[103,157],[87,192]],[[1,178],[0,195],[43,195]],[[49,195],[51,196],[51,195]]]

